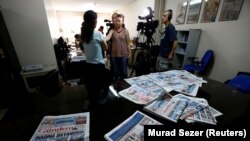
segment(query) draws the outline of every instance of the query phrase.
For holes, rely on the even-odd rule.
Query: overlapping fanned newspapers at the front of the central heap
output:
[[[215,117],[222,115],[221,112],[209,106],[203,98],[183,94],[171,96],[168,93],[145,106],[144,110],[173,122],[185,119],[188,123],[197,121],[214,125],[217,122]]]

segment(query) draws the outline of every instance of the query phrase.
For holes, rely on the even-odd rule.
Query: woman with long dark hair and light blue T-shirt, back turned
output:
[[[96,106],[104,102],[111,84],[111,74],[105,68],[102,48],[108,49],[107,43],[101,32],[95,31],[97,24],[97,14],[92,10],[88,10],[83,16],[84,22],[81,27],[81,39],[86,54],[85,69],[85,87],[88,91],[88,99],[90,104],[84,105],[84,109],[88,106]],[[86,102],[88,104],[88,102]],[[85,104],[86,104],[85,103]]]

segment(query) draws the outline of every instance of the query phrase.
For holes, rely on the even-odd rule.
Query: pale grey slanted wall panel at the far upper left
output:
[[[1,0],[0,5],[21,66],[56,66],[44,2]]]

